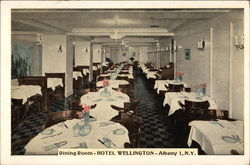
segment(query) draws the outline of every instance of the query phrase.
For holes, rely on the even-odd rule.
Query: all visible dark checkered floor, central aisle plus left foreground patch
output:
[[[143,120],[142,135],[139,143],[140,148],[173,148],[186,147],[185,141],[181,142],[180,136],[176,134],[173,121],[167,117],[166,108],[162,106],[162,98],[147,82],[145,75],[136,69],[135,77],[135,98],[140,100],[139,116]],[[70,96],[74,99],[73,96]],[[49,107],[48,113],[53,113],[68,108],[66,101],[57,101]],[[31,112],[36,107],[31,108]],[[36,136],[42,131],[45,123],[46,113],[31,115],[22,125],[12,132],[12,143],[29,137]],[[179,136],[179,138],[177,138]],[[178,139],[178,140],[177,140]],[[20,144],[13,155],[23,155],[25,153],[25,142]]]

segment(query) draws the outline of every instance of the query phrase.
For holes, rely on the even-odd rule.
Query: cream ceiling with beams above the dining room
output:
[[[227,12],[227,9],[18,9],[12,10],[12,34],[67,34],[76,38],[108,39],[117,29],[127,38],[139,38],[139,42],[149,37],[173,36],[195,21],[209,20]]]

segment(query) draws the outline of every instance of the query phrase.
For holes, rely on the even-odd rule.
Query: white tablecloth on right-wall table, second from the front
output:
[[[210,104],[209,109],[217,109],[217,105],[214,99],[208,96],[198,97],[197,93],[195,92],[167,92],[165,93],[163,106],[165,106],[166,104],[170,106],[168,115],[171,115],[176,110],[181,108],[178,102],[181,101],[181,103],[184,104],[185,100],[196,101],[196,102],[208,100]]]

